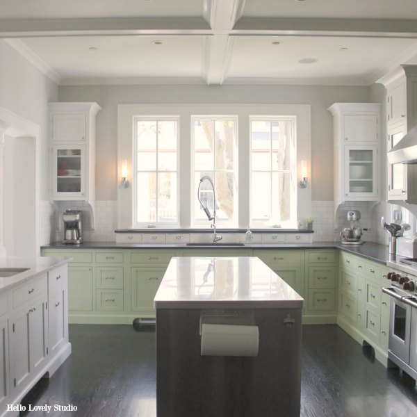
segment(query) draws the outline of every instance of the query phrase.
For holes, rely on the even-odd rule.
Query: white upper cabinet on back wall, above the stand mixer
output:
[[[379,200],[381,104],[335,103],[334,203]],[[336,211],[335,211],[336,212]]]

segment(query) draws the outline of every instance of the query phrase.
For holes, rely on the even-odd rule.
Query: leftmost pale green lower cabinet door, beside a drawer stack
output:
[[[68,267],[68,310],[92,311],[92,268]]]

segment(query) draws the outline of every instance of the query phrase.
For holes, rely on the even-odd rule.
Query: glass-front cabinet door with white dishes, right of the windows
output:
[[[345,197],[377,197],[377,147],[345,146]]]

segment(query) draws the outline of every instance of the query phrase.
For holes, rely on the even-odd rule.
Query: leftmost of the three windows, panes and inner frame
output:
[[[178,224],[178,119],[134,117],[134,126],[136,227]]]

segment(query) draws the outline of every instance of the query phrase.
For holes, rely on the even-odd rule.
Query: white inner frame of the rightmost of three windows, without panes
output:
[[[252,173],[254,172],[252,170],[252,122],[254,121],[265,121],[265,122],[279,122],[281,120],[290,120],[292,123],[292,136],[293,136],[293,142],[291,143],[291,181],[294,182],[294,190],[292,193],[294,193],[294,198],[291,199],[291,211],[293,211],[295,208],[297,208],[297,117],[295,115],[250,115],[249,117],[249,132],[250,132],[250,226],[253,228],[268,228],[272,227],[275,222],[274,220],[268,220],[268,222],[253,222],[252,221]],[[272,145],[272,142],[271,142]],[[272,170],[272,164],[271,169],[269,171],[256,171],[256,172],[269,172],[271,174],[271,185],[272,185],[272,172],[279,172]],[[286,225],[284,225],[286,226]],[[293,222],[293,224],[290,225],[292,228],[297,227],[297,218]]]

